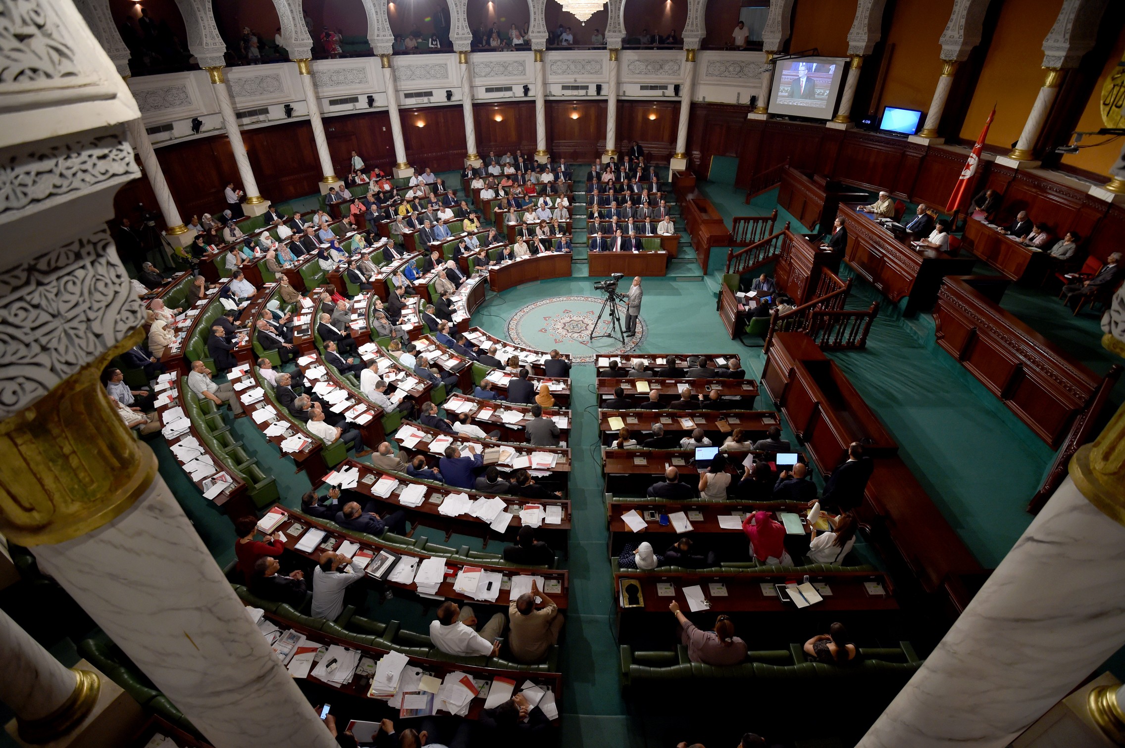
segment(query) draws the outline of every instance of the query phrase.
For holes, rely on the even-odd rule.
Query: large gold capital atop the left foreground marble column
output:
[[[123,514],[156,477],[156,457],[117,414],[100,376],[144,340],[111,349],[0,422],[0,532],[20,546],[73,540]]]

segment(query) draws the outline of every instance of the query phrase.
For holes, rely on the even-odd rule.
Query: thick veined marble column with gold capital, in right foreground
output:
[[[1007,746],[1125,642],[1123,578],[1125,407],[860,747]]]

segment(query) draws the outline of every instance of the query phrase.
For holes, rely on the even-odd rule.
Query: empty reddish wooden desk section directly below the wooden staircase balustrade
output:
[[[899,445],[835,362],[804,333],[777,333],[766,354],[762,382],[793,432],[827,475],[844,461],[848,444],[864,443],[866,457],[893,457]]]

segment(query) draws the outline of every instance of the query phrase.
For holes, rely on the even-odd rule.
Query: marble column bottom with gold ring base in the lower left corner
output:
[[[71,670],[0,611],[0,702],[16,714],[19,738],[47,742],[70,733],[98,701],[100,678]]]

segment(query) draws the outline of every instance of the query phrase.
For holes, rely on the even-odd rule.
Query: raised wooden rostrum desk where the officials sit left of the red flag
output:
[[[933,308],[943,277],[972,272],[973,258],[938,250],[919,252],[855,207],[847,204],[839,209],[847,229],[845,260],[892,301],[909,297],[904,315]]]

